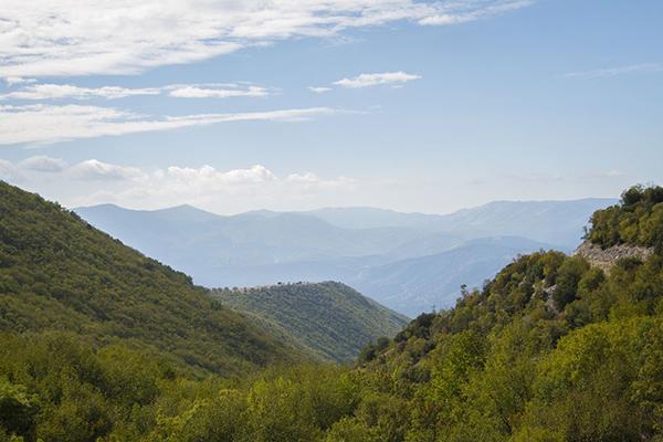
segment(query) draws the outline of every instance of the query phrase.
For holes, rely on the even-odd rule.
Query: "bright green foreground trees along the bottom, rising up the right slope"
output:
[[[0,339],[0,441],[663,441],[660,253],[520,256],[355,368],[191,380],[115,344]]]

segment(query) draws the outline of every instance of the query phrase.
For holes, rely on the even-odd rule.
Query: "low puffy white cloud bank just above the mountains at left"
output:
[[[36,156],[19,164],[0,160],[0,179],[39,191],[65,206],[116,203],[157,209],[196,204],[215,212],[315,204],[351,194],[356,180],[325,179],[312,171],[277,175],[262,165],[219,170],[212,166],[140,168],[87,159],[67,165]]]

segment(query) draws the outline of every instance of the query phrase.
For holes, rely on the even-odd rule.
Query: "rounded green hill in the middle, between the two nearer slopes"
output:
[[[323,361],[350,362],[368,343],[393,337],[409,320],[334,282],[214,290],[211,295]]]

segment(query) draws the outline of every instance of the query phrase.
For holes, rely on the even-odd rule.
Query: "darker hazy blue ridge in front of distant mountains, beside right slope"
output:
[[[366,267],[348,283],[397,312],[417,316],[433,306],[449,308],[461,285],[481,287],[518,254],[551,248],[517,236],[471,240],[443,253]]]

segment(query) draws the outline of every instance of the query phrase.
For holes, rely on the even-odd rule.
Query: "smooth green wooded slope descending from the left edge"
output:
[[[236,375],[294,357],[189,276],[0,182],[0,330],[69,330]]]

